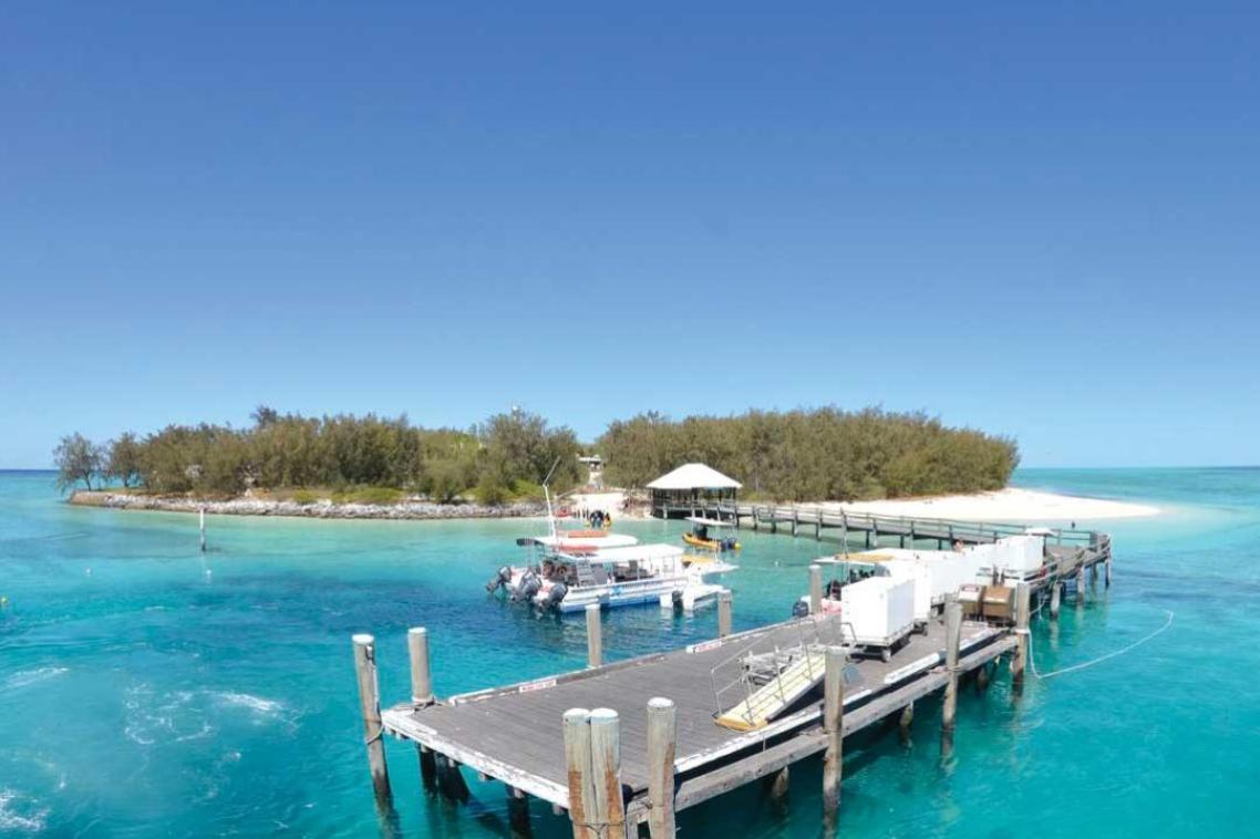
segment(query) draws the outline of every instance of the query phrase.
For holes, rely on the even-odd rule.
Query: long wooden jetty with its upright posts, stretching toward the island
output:
[[[751,506],[751,505],[748,505]],[[751,517],[753,525],[795,522],[801,510],[748,506],[708,509],[708,515]],[[814,513],[810,511],[813,515]],[[881,538],[979,544],[1023,533],[1018,525],[974,524],[935,519],[816,515],[811,522],[839,527],[842,538],[863,534],[876,547]],[[412,697],[382,711],[375,676],[375,642],[355,635],[355,668],[365,745],[378,802],[391,800],[384,734],[413,742],[423,782],[442,795],[467,799],[460,775],[466,767],[481,779],[507,786],[517,830],[528,829],[528,797],[567,813],[575,839],[638,835],[646,824],[654,839],[674,835],[674,814],[738,786],[767,779],[771,795],[788,789],[788,767],[823,755],[824,820],[834,825],[840,797],[844,738],[883,719],[905,732],[915,702],[944,690],[941,750],[955,736],[959,680],[976,675],[983,689],[998,660],[1009,663],[1016,695],[1028,660],[1028,624],[1042,606],[1057,617],[1065,587],[1084,602],[1086,574],[1105,567],[1111,583],[1111,540],[1106,534],[1058,530],[1047,535],[1046,564],[1034,578],[1016,586],[1009,624],[963,620],[956,596],[948,596],[922,632],[895,650],[888,661],[854,658],[838,619],[820,614],[818,566],[810,571],[811,615],[731,634],[731,600],[718,603],[717,637],[684,649],[602,664],[601,624],[587,615],[588,666],[438,700],[428,668],[428,635],[408,632]],[[815,579],[818,578],[818,579]],[[1033,605],[1037,603],[1037,608]],[[799,650],[803,658],[781,668],[791,673],[781,707],[752,697],[743,668],[759,655]],[[808,676],[803,675],[808,671]],[[780,678],[780,676],[775,676]],[[799,684],[800,680],[808,684]],[[742,685],[742,687],[741,687]],[[743,694],[740,694],[743,690]],[[791,694],[791,695],[789,695]],[[741,703],[742,700],[742,703]],[[732,708],[756,708],[746,726],[731,724]],[[724,714],[724,718],[723,718]],[[723,724],[719,724],[723,718]],[[524,826],[519,824],[524,820]]]

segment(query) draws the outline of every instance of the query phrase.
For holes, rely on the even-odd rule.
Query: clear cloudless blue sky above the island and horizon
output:
[[[262,402],[1260,462],[1255,5],[8,5],[0,467]]]

